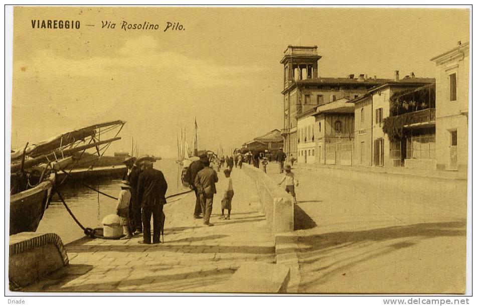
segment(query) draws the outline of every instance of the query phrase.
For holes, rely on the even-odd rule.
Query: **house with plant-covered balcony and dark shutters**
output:
[[[435,79],[396,71],[369,93],[373,165],[435,169]]]

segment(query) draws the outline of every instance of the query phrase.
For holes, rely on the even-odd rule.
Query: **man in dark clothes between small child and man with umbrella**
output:
[[[141,205],[136,201],[137,179],[139,178],[140,171],[136,167],[135,162],[135,157],[128,157],[124,160],[123,164],[126,165],[127,172],[122,177],[122,180],[128,181],[131,186],[131,200],[129,202],[129,220],[131,220],[130,230],[131,232],[134,232],[134,235],[137,235],[142,233],[142,218]]]

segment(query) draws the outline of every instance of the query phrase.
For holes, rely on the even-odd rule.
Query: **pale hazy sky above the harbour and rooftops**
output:
[[[168,22],[183,30],[164,31]],[[466,9],[16,7],[12,147],[120,119],[109,155],[130,151],[134,137],[140,154],[175,158],[197,118],[199,149],[230,154],[282,128],[288,45],[318,46],[321,77],[435,77],[430,59],[457,41],[469,41]]]

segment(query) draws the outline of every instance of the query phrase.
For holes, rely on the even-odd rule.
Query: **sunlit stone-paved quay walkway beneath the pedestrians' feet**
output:
[[[274,262],[274,237],[259,212],[253,182],[232,171],[235,196],[231,220],[220,220],[223,173],[219,173],[211,223],[193,219],[195,196],[165,206],[165,243],[82,238],[66,245],[70,266],[23,288],[50,292],[233,292],[224,287],[246,262]],[[162,239],[162,238],[161,238]]]

